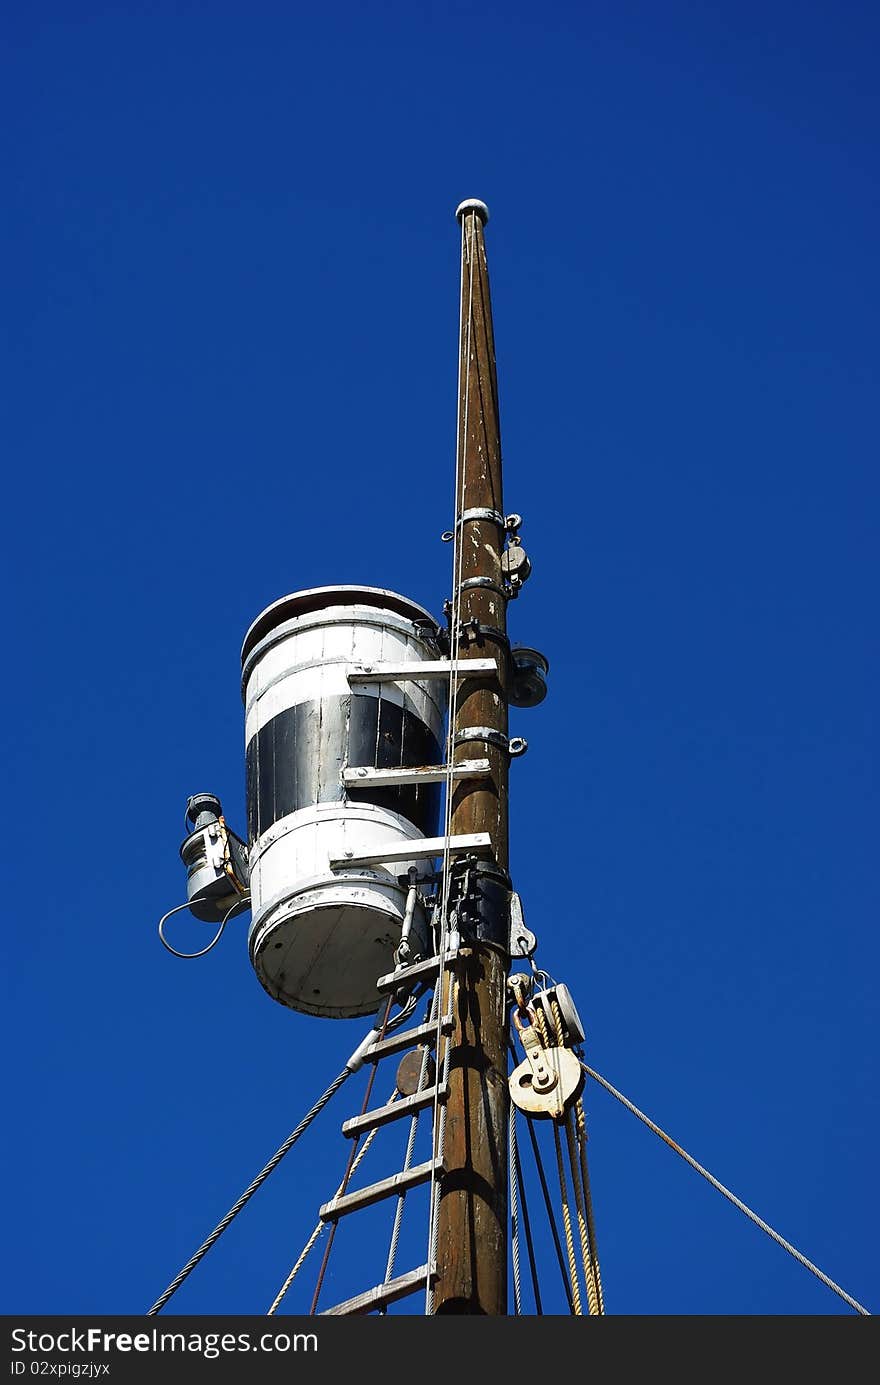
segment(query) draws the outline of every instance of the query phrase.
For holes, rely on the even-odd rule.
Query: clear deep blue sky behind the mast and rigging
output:
[[[244,828],[254,616],[324,583],[449,594],[464,197],[492,212],[534,565],[510,626],[550,659],[511,719],[536,960],[588,1061],[873,1309],[876,8],[159,0],[3,28],[4,1312],[144,1312],[364,1028],[273,1004],[245,922],[193,963],[155,922],[187,795]],[[265,1312],[360,1098],[166,1312]],[[850,1312],[586,1108],[608,1313]],[[327,1305],[381,1278],[382,1235],[341,1226]]]

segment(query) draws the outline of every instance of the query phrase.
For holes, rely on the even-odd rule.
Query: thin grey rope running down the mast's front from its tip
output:
[[[471,212],[471,234],[475,226],[474,217],[475,212]],[[468,277],[467,277],[467,330],[464,332],[464,357],[461,356],[460,342],[463,335],[463,314],[464,314],[464,265],[467,262]],[[439,888],[439,971],[437,976],[437,994],[442,997],[443,993],[443,972],[445,972],[445,956],[446,956],[446,936],[448,936],[448,918],[446,909],[449,903],[449,867],[450,867],[450,849],[449,838],[452,837],[452,792],[453,792],[453,778],[452,778],[452,762],[455,755],[455,730],[456,730],[456,715],[459,708],[459,654],[461,643],[461,572],[464,565],[464,543],[463,543],[463,529],[464,525],[459,524],[460,515],[464,512],[464,496],[467,492],[467,481],[464,476],[464,449],[467,446],[467,428],[468,428],[468,411],[470,411],[470,360],[471,360],[471,328],[474,320],[474,255],[473,249],[468,253],[468,240],[467,240],[467,215],[461,217],[461,276],[460,276],[460,292],[459,292],[459,385],[457,385],[457,420],[456,420],[456,482],[455,482],[455,524],[453,524],[453,543],[452,543],[452,640],[449,648],[449,720],[446,726],[446,777],[445,777],[445,805],[443,805],[443,864],[441,870],[441,888]],[[461,391],[461,370],[464,368],[464,391]],[[464,399],[461,397],[464,395]],[[439,1060],[441,1051],[441,1019],[442,1019],[442,1004],[437,1014],[437,1047],[435,1051]],[[450,1042],[446,1044],[446,1066],[449,1055]],[[438,1061],[439,1069],[439,1061]],[[443,1155],[443,1140],[446,1134],[446,1120],[445,1108],[439,1107],[438,1098],[434,1098],[434,1158],[441,1159]],[[428,1188],[428,1259],[427,1259],[427,1281],[425,1281],[425,1314],[434,1313],[434,1289],[431,1287],[431,1267],[437,1256],[437,1217],[439,1212],[439,1184],[437,1181],[437,1170],[431,1170],[431,1183]]]

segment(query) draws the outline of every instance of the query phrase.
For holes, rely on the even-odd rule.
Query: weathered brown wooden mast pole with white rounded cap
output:
[[[460,781],[450,832],[489,832],[507,871],[507,618],[504,504],[485,204],[461,202],[461,330],[453,654],[495,656],[499,677],[459,677],[453,759],[477,752],[492,777]],[[474,580],[478,579],[478,580]],[[456,630],[456,616],[457,630]],[[464,734],[463,734],[464,733]],[[484,734],[485,733],[485,734]],[[474,740],[481,744],[477,748]],[[506,921],[504,921],[506,924]],[[437,1228],[435,1313],[507,1312],[507,932],[463,939],[455,968],[455,1029]]]

